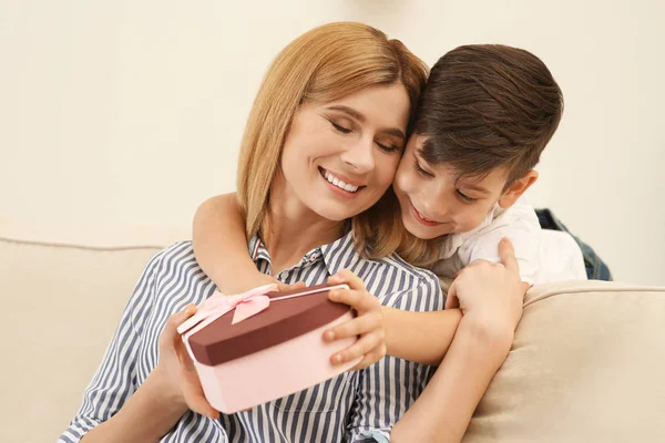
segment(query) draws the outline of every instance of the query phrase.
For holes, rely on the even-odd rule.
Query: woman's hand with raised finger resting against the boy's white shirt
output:
[[[454,279],[446,309],[459,307],[485,327],[514,332],[522,318],[528,284],[520,279],[514,249],[508,238],[499,243],[500,264],[475,260]]]

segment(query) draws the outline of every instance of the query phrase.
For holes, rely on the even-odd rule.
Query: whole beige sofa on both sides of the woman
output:
[[[0,230],[0,237],[2,231]],[[1,442],[54,441],[155,246],[0,238]],[[665,289],[531,289],[466,442],[665,442]]]

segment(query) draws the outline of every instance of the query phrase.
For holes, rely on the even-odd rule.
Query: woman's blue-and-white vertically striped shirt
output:
[[[249,253],[257,268],[270,274],[270,257],[255,237]],[[405,310],[443,309],[436,276],[397,256],[360,257],[351,235],[309,251],[277,276],[280,281],[326,282],[341,269],[358,275],[382,305]],[[170,316],[187,303],[201,303],[215,290],[198,267],[192,244],[178,243],[154,256],[125,308],[83,403],[59,442],[78,442],[109,420],[158,361],[158,336]],[[188,411],[162,442],[388,442],[392,425],[420,395],[433,369],[387,357],[356,372],[250,411],[212,420]]]

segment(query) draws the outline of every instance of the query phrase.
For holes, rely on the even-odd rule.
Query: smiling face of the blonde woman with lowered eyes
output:
[[[377,203],[402,154],[409,105],[401,84],[304,104],[282,153],[289,200],[329,220],[347,219]]]

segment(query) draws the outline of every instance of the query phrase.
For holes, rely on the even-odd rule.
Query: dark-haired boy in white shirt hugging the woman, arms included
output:
[[[533,167],[562,112],[559,85],[542,61],[526,51],[467,45],[443,55],[430,72],[393,182],[403,225],[416,237],[402,256],[415,264],[433,261],[436,274],[454,277],[477,259],[499,262],[499,241],[509,237],[526,284],[584,279],[576,244],[572,239],[567,244],[542,241],[548,239],[538,217],[521,199],[538,178]],[[335,177],[324,179],[345,187]],[[244,230],[233,195],[204,203],[195,217],[196,258],[224,293],[274,282],[248,258]],[[555,259],[543,262],[548,248]],[[335,276],[332,280],[342,279]],[[347,302],[362,315],[362,299],[337,295],[336,301]],[[451,337],[422,342],[405,332],[417,329],[422,331],[419,337],[432,332],[424,316],[429,319],[431,312],[383,308],[388,353],[421,363],[441,359]],[[336,328],[327,339],[369,333],[380,327],[365,322]],[[356,347],[352,352],[334,356],[332,361],[350,360],[359,350]],[[368,349],[362,351],[368,353]],[[376,361],[377,354],[362,364]]]

